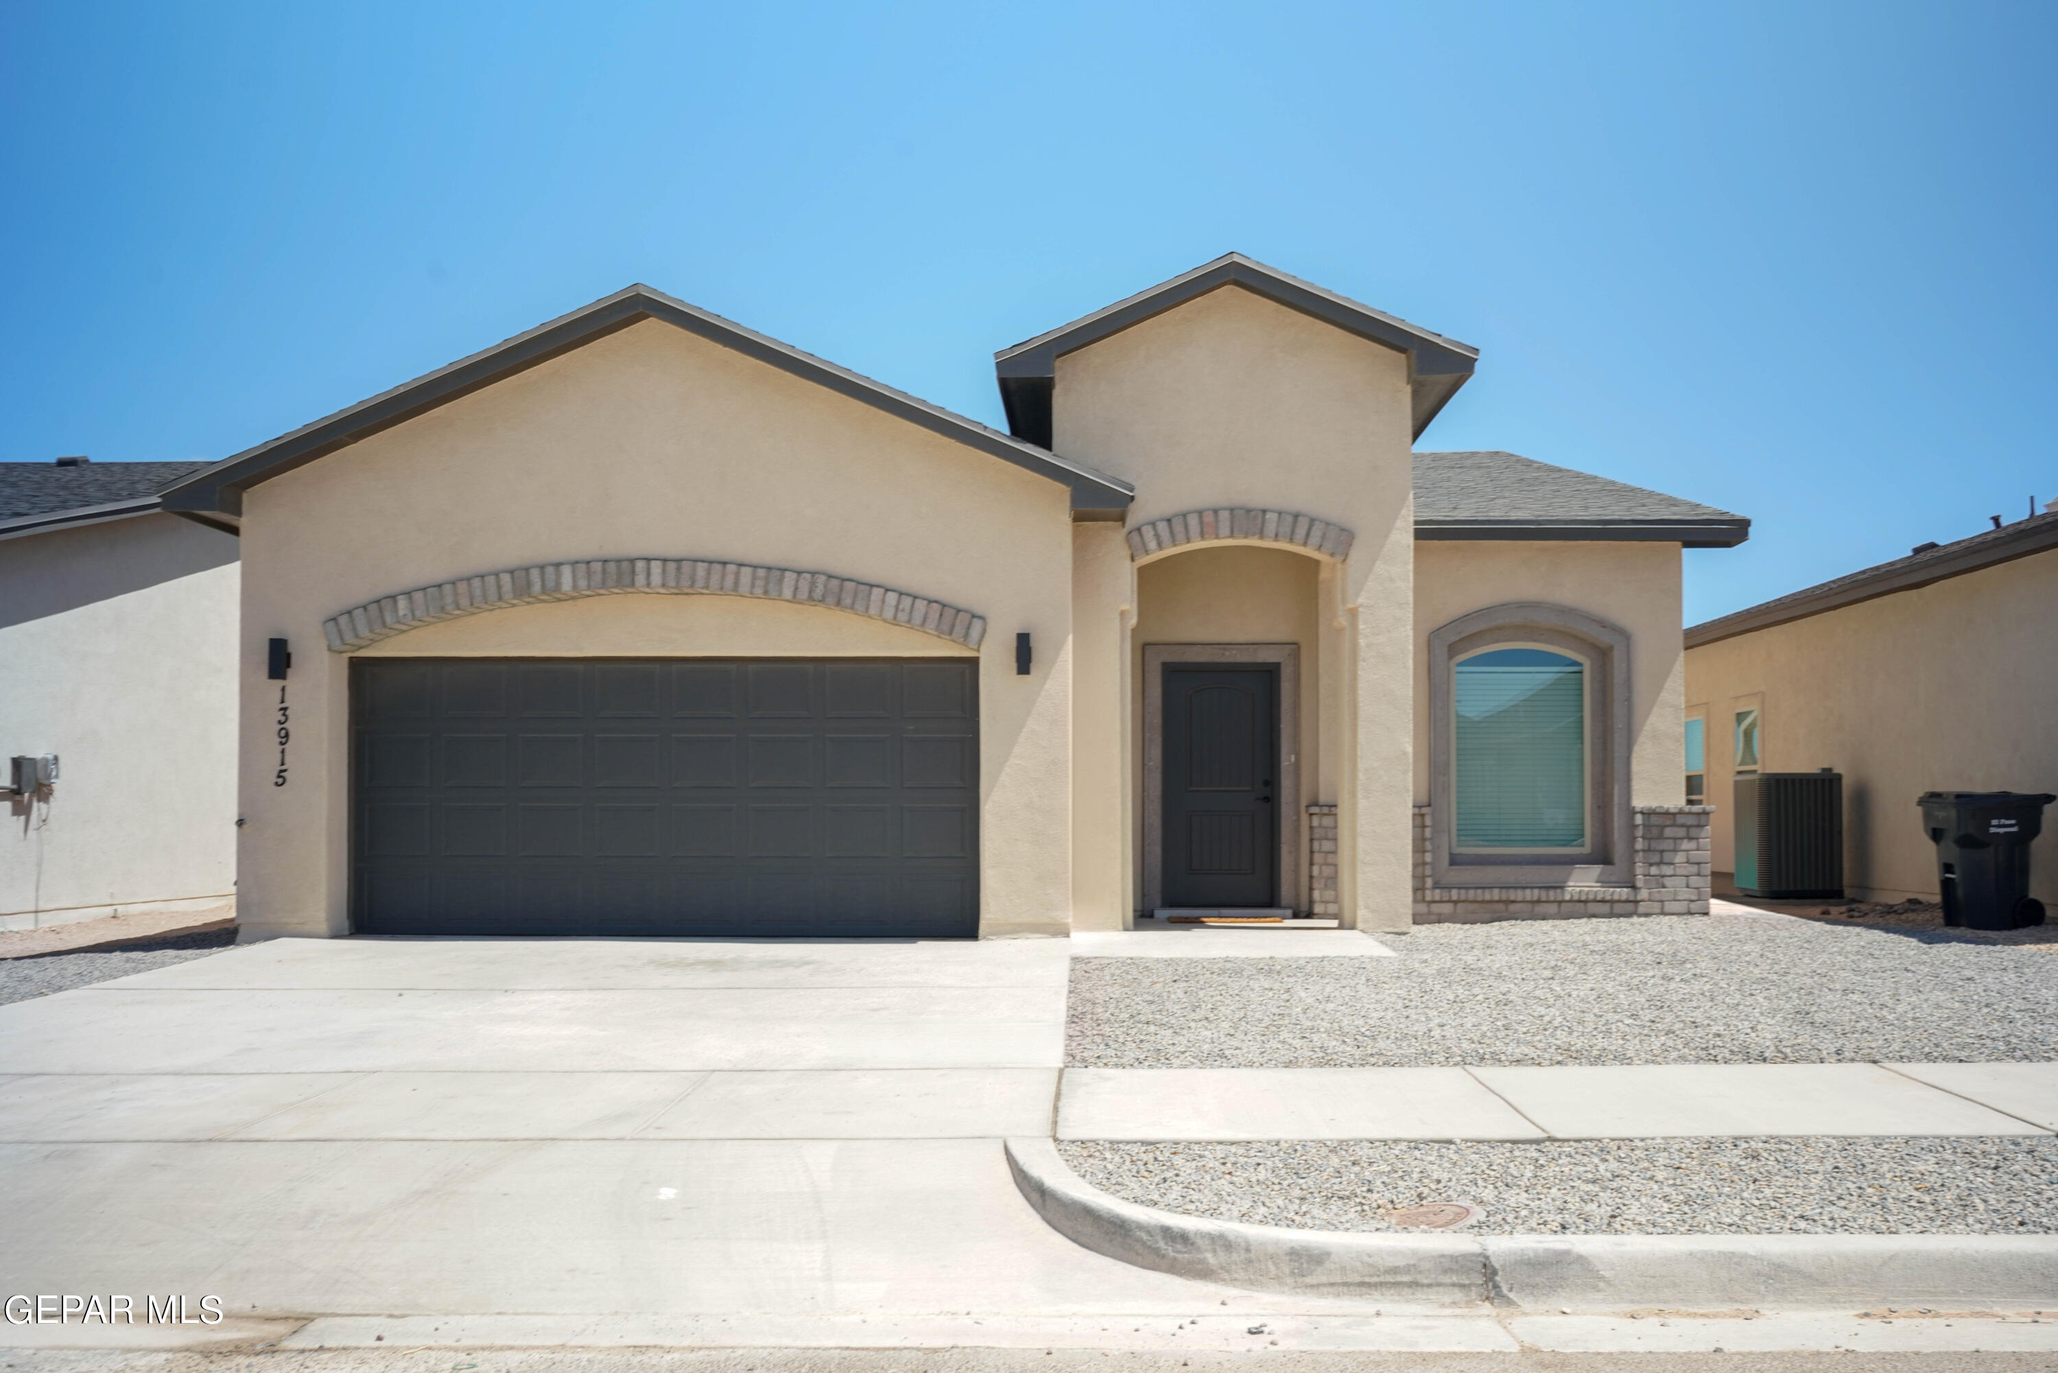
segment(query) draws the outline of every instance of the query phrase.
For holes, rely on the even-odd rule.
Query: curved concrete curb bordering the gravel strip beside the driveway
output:
[[[1015,1186],[1066,1239],[1138,1268],[1393,1305],[2058,1305],[2058,1235],[1367,1235],[1124,1202],[1048,1138],[1010,1138]]]

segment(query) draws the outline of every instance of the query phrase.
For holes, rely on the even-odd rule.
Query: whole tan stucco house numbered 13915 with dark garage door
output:
[[[1704,910],[1747,521],[1412,453],[1474,358],[1231,255],[998,354],[1004,434],[632,286],[198,471],[245,937]]]

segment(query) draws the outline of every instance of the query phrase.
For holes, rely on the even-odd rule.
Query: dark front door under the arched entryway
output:
[[[1165,904],[1278,906],[1278,667],[1165,665]]]

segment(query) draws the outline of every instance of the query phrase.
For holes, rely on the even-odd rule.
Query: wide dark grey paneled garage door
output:
[[[910,659],[358,659],[375,935],[978,935],[978,677]]]

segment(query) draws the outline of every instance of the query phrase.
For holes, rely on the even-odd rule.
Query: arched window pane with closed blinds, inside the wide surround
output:
[[[1457,850],[1587,848],[1587,665],[1488,648],[1451,671]]]

